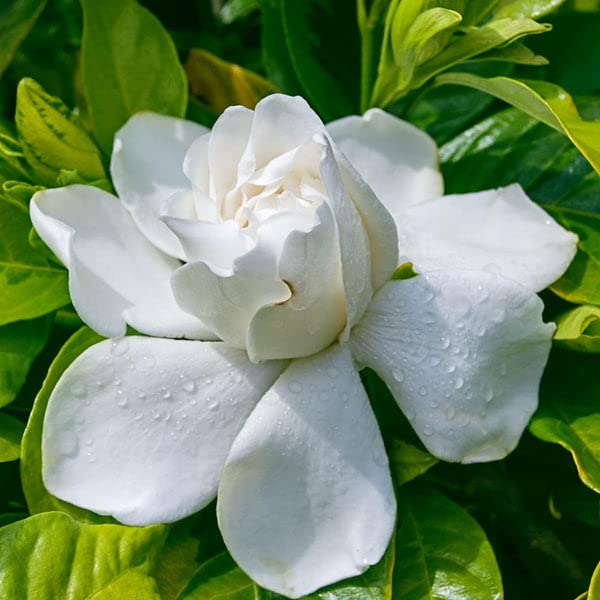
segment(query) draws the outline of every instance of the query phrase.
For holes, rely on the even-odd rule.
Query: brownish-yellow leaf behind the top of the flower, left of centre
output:
[[[192,94],[217,112],[235,104],[254,108],[261,98],[279,91],[264,77],[206,50],[192,50],[184,68]]]

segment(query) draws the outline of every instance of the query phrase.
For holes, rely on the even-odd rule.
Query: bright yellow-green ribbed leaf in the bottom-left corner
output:
[[[0,529],[0,597],[117,598],[107,588],[130,569],[147,572],[164,535],[161,525],[88,525],[58,512],[7,525]],[[105,595],[93,595],[100,590]],[[156,597],[131,591],[120,598]]]

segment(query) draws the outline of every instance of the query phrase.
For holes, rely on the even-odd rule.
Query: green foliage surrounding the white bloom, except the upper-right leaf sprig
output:
[[[372,103],[393,2],[359,2],[358,19],[350,0],[141,4],[150,13],[133,0],[83,0],[86,29],[75,0],[0,6],[2,598],[275,598],[225,553],[214,506],[171,527],[128,528],[44,490],[45,403],[64,368],[99,338],[79,329],[66,271],[31,232],[27,203],[38,186],[85,181],[110,189],[112,134],[140,108],[211,125],[226,106],[253,106],[280,89],[307,97],[325,121],[361,112]],[[464,15],[481,6],[462,4]],[[436,139],[447,193],[518,181],[580,236],[574,264],[542,294],[546,318],[560,327],[540,409],[506,460],[443,464],[424,451],[385,386],[363,372],[392,461],[398,528],[379,565],[312,598],[600,598],[598,571],[592,580],[600,561],[600,182],[590,164],[600,153],[598,124],[571,135],[576,147],[564,135],[568,124],[558,131],[540,122],[535,101],[525,111],[511,108],[456,85],[455,75],[551,81],[574,96],[585,119],[598,119],[600,7],[594,0],[500,4],[552,9],[538,18],[552,30],[527,38],[548,64],[492,56],[451,65],[442,77],[453,84],[409,83],[387,109]],[[115,562],[118,544],[126,552]],[[75,547],[84,549],[76,559]]]

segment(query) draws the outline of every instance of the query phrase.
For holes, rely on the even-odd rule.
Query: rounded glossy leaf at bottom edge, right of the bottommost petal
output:
[[[411,483],[398,494],[393,590],[394,600],[499,600],[502,580],[475,519]]]

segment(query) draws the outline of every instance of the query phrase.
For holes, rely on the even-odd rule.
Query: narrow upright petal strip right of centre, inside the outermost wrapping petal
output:
[[[346,331],[341,339],[347,339],[350,328],[358,323],[373,295],[371,248],[366,229],[344,186],[333,148],[325,136],[318,137],[323,145],[321,178],[338,229],[348,315]]]

